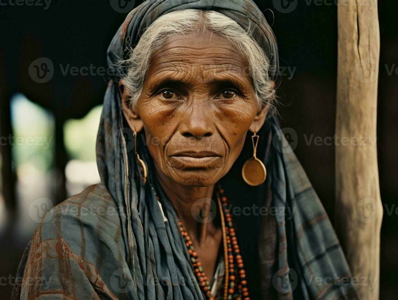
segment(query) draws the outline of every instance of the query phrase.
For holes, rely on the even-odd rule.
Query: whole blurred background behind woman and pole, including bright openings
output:
[[[1,298],[10,297],[23,249],[44,212],[100,181],[95,141],[111,72],[106,50],[141,2],[0,2]],[[337,1],[255,2],[279,44],[281,127],[295,129],[295,153],[333,222],[334,145],[308,145],[308,139],[334,135]],[[381,299],[398,294],[397,11],[398,2],[378,4]]]

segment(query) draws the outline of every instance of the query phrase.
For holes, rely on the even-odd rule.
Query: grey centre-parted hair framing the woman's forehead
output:
[[[123,82],[131,97],[131,106],[140,97],[151,56],[162,47],[165,39],[178,34],[203,32],[205,29],[226,37],[246,58],[258,101],[272,106],[275,90],[268,75],[269,60],[258,43],[231,18],[219,12],[195,9],[178,10],[160,16],[145,30],[137,46],[131,49],[129,58],[121,61],[120,64],[128,68]]]

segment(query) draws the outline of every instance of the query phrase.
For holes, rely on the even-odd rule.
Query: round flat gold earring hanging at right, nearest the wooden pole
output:
[[[256,139],[256,141],[254,141]],[[257,144],[259,136],[256,132],[252,136],[253,143],[253,157],[244,163],[242,168],[242,177],[245,182],[251,186],[258,186],[265,181],[267,171],[262,161],[256,157]]]

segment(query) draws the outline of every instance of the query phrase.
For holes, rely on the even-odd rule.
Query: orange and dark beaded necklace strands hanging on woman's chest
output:
[[[228,210],[229,201],[224,195],[224,190],[222,188],[220,188],[216,194],[219,210],[220,212],[224,212],[220,214],[225,263],[224,300],[250,300],[246,272],[244,270],[242,256],[240,255],[238,241],[235,236],[236,224],[232,214],[230,214]],[[209,278],[206,276],[205,272],[203,272],[201,262],[192,245],[192,240],[180,220],[178,220],[178,226],[185,241],[185,245],[187,246],[197,282],[207,299],[215,300],[215,295],[213,295],[210,290]]]

